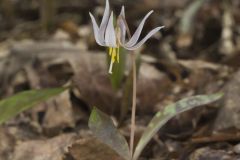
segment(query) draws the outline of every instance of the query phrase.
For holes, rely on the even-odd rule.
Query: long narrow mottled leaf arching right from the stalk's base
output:
[[[194,107],[202,106],[214,102],[221,98],[223,94],[212,95],[198,95],[185,98],[176,103],[166,106],[162,111],[159,111],[149,123],[145,132],[143,133],[140,141],[135,149],[133,160],[137,160],[144,147],[151,140],[151,138],[158,132],[158,130],[167,123],[169,119],[179,113],[192,109]]]

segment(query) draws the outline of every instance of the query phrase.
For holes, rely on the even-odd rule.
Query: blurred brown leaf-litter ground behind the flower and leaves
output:
[[[169,121],[143,159],[237,160],[240,1],[109,1],[114,13],[126,7],[132,34],[152,9],[141,36],[165,26],[137,51],[137,138],[167,104],[197,94],[225,93],[221,102]],[[73,86],[0,127],[0,160],[42,155],[45,159],[38,160],[113,159],[106,148],[94,150],[102,146],[87,127],[92,106],[111,115],[129,138],[129,54],[122,51],[126,63],[120,64],[124,69],[118,79],[109,76],[106,48],[96,44],[89,17],[91,12],[100,22],[104,7],[105,0],[0,0],[1,98],[29,89]],[[49,149],[53,146],[56,151]],[[89,154],[94,151],[95,158]]]

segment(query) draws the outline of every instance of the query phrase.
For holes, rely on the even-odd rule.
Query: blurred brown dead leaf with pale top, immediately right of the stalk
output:
[[[166,74],[154,66],[142,63],[137,81],[137,105],[140,113],[153,113],[155,105],[171,88],[172,82]]]

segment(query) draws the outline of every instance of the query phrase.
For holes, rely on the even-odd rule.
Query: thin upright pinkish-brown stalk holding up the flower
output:
[[[134,135],[135,135],[135,116],[136,116],[136,99],[137,99],[137,71],[136,71],[136,55],[132,53],[132,76],[133,76],[133,92],[132,92],[132,116],[131,116],[131,135],[130,135],[130,154],[133,157]]]

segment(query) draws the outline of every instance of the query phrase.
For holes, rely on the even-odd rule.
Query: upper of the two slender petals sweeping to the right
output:
[[[126,46],[128,47],[132,47],[134,46],[139,37],[140,37],[140,34],[142,32],[142,29],[143,29],[143,26],[147,20],[147,18],[153,13],[153,10],[151,10],[150,12],[148,12],[148,14],[143,18],[143,20],[141,21],[141,23],[139,24],[137,30],[135,31],[135,33],[133,34],[132,38],[126,43]]]

